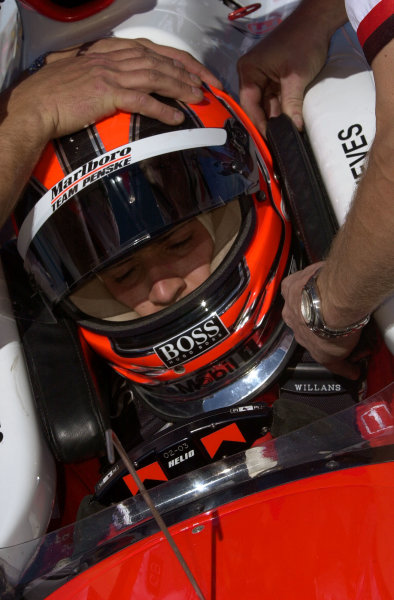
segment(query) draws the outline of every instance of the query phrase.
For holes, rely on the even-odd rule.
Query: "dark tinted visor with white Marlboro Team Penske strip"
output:
[[[259,189],[248,136],[242,143],[231,130],[176,133],[190,146],[194,132],[199,144],[201,135],[215,139],[214,132],[224,143],[167,152],[174,133],[130,143],[129,155],[114,151],[113,161],[98,160],[91,170],[83,165],[36,203],[21,227],[18,248],[52,301],[174,227]],[[33,186],[30,193],[37,194]]]

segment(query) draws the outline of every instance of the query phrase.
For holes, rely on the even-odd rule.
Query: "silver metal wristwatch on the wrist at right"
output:
[[[367,315],[357,323],[352,323],[347,327],[341,329],[332,329],[327,327],[324,322],[323,315],[321,312],[321,300],[319,289],[317,287],[317,277],[320,269],[312,275],[306,282],[301,292],[301,313],[304,318],[306,325],[319,337],[322,338],[336,338],[350,335],[357,329],[364,327],[370,319],[370,315]]]

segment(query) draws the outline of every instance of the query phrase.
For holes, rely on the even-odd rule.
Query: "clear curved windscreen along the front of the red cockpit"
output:
[[[392,460],[393,393],[394,384],[390,384],[344,411],[163,483],[150,491],[151,498],[162,516],[172,515],[174,523],[197,518],[204,498],[211,499],[211,508],[237,500],[248,481],[253,482],[254,492],[275,485],[279,490],[299,477],[309,479],[311,487],[320,489],[321,478],[316,475],[336,469],[352,473],[351,467],[379,462],[379,456],[382,462],[390,457]],[[365,453],[368,449],[371,456]],[[301,465],[303,470],[297,471],[295,468]],[[281,477],[275,479],[275,473]],[[356,484],[357,479],[352,485]],[[382,508],[373,495],[371,507],[374,512]],[[370,519],[368,523],[369,531],[375,525]],[[141,525],[143,529],[139,529]],[[384,523],[380,527],[384,532]],[[122,548],[133,548],[141,538],[156,531],[148,506],[137,495],[40,539],[0,549],[4,585],[10,592],[23,592],[24,598],[47,597],[49,591],[87,567]]]

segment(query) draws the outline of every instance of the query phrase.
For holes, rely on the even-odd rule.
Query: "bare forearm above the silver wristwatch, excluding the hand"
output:
[[[375,140],[365,177],[318,279],[328,325],[358,321],[393,292],[394,164],[388,142]]]

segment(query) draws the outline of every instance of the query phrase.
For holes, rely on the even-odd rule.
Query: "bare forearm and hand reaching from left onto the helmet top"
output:
[[[149,40],[105,38],[50,55],[47,63],[0,96],[0,226],[50,139],[117,110],[179,125],[183,112],[153,94],[195,103],[202,79],[221,85],[187,52]]]

